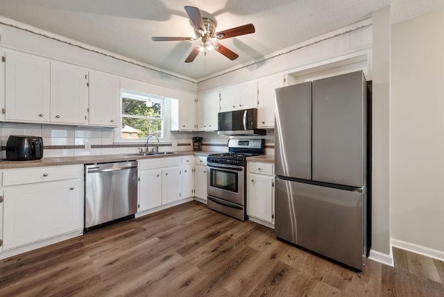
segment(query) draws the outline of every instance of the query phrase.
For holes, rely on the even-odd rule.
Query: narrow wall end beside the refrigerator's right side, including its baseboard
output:
[[[391,264],[390,216],[388,212],[390,29],[390,6],[373,12],[372,242],[370,257]],[[376,255],[375,252],[377,252]]]

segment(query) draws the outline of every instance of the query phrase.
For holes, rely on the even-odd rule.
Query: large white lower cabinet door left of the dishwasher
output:
[[[4,190],[3,250],[83,228],[80,180]]]

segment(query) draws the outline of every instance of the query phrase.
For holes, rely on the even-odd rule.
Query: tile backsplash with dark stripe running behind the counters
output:
[[[268,130],[265,138],[265,153],[274,154],[274,131]],[[43,138],[44,158],[74,155],[112,155],[136,153],[143,143],[114,144],[114,128],[58,126],[49,124],[0,123],[0,158],[6,158],[6,142],[9,135],[31,135]],[[191,138],[203,137],[203,151],[228,151],[228,136],[216,132],[178,133],[171,132],[170,142],[161,143],[160,151],[191,151]],[[251,138],[240,136],[241,138]],[[85,143],[91,148],[85,149]]]

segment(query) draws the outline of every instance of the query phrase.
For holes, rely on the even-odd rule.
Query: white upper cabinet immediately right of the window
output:
[[[196,94],[180,92],[171,99],[171,131],[196,131]]]

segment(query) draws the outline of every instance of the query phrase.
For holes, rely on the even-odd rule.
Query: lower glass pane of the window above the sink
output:
[[[133,129],[133,130],[131,130]],[[135,119],[132,117],[122,117],[122,138],[128,138],[125,134],[133,133],[133,138],[146,138],[148,135],[155,135],[161,138],[162,120],[161,119]]]

